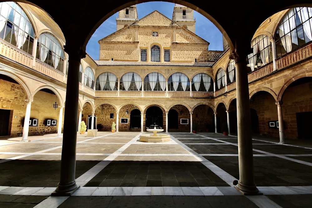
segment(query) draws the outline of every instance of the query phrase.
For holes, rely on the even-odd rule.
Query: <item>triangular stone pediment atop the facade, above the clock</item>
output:
[[[172,26],[172,20],[155,10],[139,20],[140,26]]]

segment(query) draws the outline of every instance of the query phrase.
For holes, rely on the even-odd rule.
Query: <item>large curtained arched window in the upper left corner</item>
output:
[[[1,2],[0,7],[0,38],[32,55],[35,32],[26,13],[16,2]]]

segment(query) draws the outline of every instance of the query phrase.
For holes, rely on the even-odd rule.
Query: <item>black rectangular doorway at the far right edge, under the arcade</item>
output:
[[[312,126],[312,112],[296,113],[298,139],[312,139],[310,129]]]

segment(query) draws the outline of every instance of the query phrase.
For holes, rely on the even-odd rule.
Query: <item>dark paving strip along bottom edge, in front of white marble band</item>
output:
[[[245,196],[71,196],[59,208],[108,207],[227,207],[256,208]]]

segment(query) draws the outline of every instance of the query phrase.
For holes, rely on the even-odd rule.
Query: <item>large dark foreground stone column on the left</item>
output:
[[[79,66],[86,52],[80,47],[73,47],[72,42],[65,46],[65,52],[69,55],[68,76],[66,85],[66,106],[64,112],[63,145],[61,156],[61,176],[56,190],[52,196],[70,196],[80,186],[75,180],[76,172],[76,144],[77,144],[77,120],[79,99]],[[68,47],[67,47],[68,46]]]

